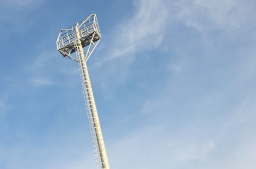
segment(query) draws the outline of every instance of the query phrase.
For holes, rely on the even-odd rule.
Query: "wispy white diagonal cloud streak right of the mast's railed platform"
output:
[[[134,4],[134,16],[117,26],[110,59],[127,55],[131,57],[134,52],[157,48],[163,41],[168,24],[168,9],[163,1],[137,0]]]

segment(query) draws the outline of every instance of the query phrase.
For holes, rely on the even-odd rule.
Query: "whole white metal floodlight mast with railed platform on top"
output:
[[[96,14],[91,14],[87,19],[61,30],[56,44],[57,50],[64,57],[78,62],[97,166],[99,169],[110,169],[86,64],[100,39],[101,34]],[[87,47],[87,52],[85,53],[84,47]],[[71,56],[75,51],[76,57]]]

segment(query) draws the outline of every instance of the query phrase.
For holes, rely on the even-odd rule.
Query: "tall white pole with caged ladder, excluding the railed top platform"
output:
[[[95,34],[95,33],[94,33]],[[94,36],[93,34],[93,36]],[[96,155],[97,165],[102,169],[110,169],[108,163],[105,143],[102,136],[102,130],[99,122],[99,116],[96,109],[95,100],[93,97],[93,90],[90,83],[90,78],[86,65],[86,58],[84,58],[84,50],[81,45],[78,25],[76,26],[77,42],[74,42],[77,48],[77,59],[80,68],[81,83],[84,92],[85,104],[87,104],[87,114],[90,123],[90,129],[93,138],[93,146]],[[90,48],[90,47],[89,47]]]

